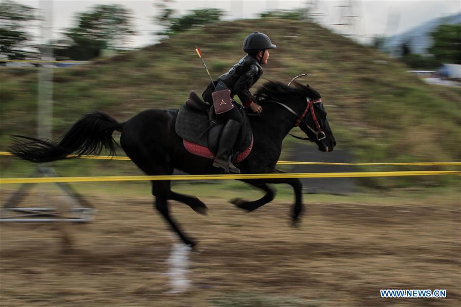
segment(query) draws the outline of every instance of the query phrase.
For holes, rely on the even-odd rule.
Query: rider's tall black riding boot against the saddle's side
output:
[[[238,121],[229,119],[222,129],[221,137],[219,138],[218,153],[216,154],[213,166],[224,168],[226,173],[240,173],[240,169],[232,164],[231,155],[241,125]]]

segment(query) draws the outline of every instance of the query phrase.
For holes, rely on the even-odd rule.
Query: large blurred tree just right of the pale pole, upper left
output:
[[[102,49],[127,49],[126,43],[135,34],[131,11],[121,5],[97,5],[76,16],[77,26],[65,33],[72,45],[60,50],[60,56],[88,60],[99,56]]]

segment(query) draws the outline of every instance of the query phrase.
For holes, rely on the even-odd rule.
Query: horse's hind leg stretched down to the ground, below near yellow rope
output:
[[[173,220],[170,215],[168,199],[171,195],[170,181],[152,181],[152,194],[155,196],[155,208],[163,215],[165,220],[170,224],[171,228],[179,235],[182,242],[190,247],[194,247],[195,243],[192,239],[187,238]]]

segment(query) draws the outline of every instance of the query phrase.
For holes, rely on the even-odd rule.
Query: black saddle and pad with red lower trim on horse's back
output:
[[[239,111],[243,122],[233,148],[232,161],[236,163],[244,160],[253,148],[252,126],[244,109]],[[179,109],[175,130],[183,139],[187,151],[214,159],[224,124],[225,120],[214,114],[213,105],[203,102],[197,93],[191,91],[189,98]]]

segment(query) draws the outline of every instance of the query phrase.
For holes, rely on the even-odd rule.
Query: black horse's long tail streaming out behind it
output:
[[[67,155],[99,155],[102,148],[115,155],[115,140],[112,134],[121,131],[122,124],[102,112],[93,112],[80,118],[60,138],[59,143],[47,139],[13,136],[14,144],[9,150],[14,156],[32,162],[50,162],[66,158]]]

